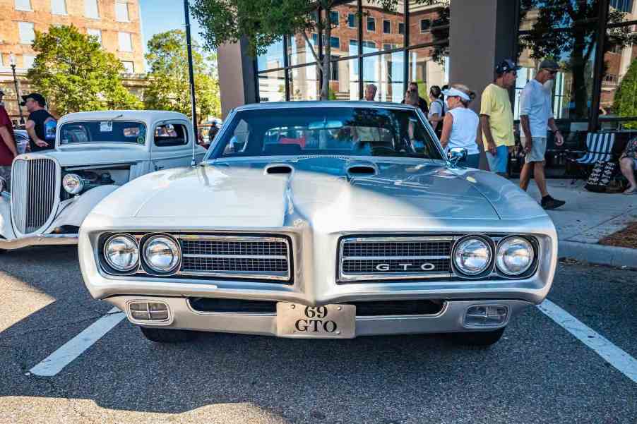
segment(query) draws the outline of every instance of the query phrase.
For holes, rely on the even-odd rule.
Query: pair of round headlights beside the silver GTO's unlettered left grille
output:
[[[140,240],[129,234],[114,234],[104,243],[102,255],[116,272],[133,272],[143,267],[155,274],[171,274],[181,263],[181,248],[174,238],[151,234]]]

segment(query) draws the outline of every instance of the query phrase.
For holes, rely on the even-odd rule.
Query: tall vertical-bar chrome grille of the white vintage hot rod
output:
[[[56,202],[56,163],[52,159],[18,159],[11,174],[11,215],[21,234],[42,228]]]

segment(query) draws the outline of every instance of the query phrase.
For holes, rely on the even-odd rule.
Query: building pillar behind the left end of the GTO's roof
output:
[[[222,119],[230,109],[256,103],[254,59],[248,54],[248,42],[224,44],[217,50]]]

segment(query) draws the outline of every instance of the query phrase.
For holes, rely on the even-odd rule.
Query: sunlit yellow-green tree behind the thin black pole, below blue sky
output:
[[[206,116],[220,116],[219,81],[213,63],[214,54],[204,56],[193,46],[193,70],[197,119],[199,123]],[[178,111],[191,115],[188,52],[186,34],[181,30],[171,30],[153,35],[148,41],[146,54],[150,72],[148,87],[144,92],[144,103],[148,109]]]

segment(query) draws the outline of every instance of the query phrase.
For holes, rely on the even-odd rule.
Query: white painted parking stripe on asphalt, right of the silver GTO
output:
[[[602,334],[584,325],[583,322],[552,301],[545,299],[544,302],[537,305],[537,308],[566,329],[566,331],[573,334],[583,344],[593,349],[607,363],[637,383],[637,361],[635,358],[612,344]]]

